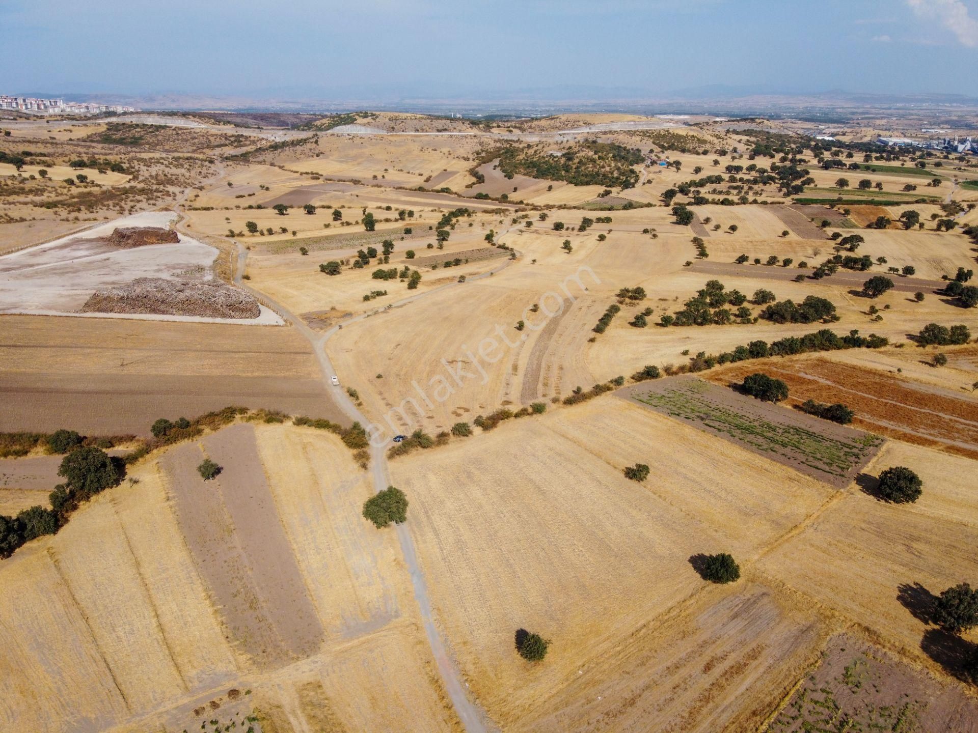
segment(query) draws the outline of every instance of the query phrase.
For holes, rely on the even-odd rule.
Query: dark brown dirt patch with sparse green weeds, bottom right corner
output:
[[[829,640],[822,664],[807,675],[768,730],[975,733],[978,703],[878,647],[840,634]]]

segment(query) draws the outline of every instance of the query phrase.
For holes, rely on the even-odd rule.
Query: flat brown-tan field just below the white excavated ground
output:
[[[3,316],[0,430],[146,435],[229,405],[343,420],[293,329]]]

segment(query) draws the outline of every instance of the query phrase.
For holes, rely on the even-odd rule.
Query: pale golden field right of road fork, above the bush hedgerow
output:
[[[585,213],[559,217],[576,225]],[[496,275],[446,287],[333,335],[327,344],[333,365],[349,375],[346,383],[358,390],[372,420],[401,431],[408,427],[398,413],[403,409],[416,424],[437,430],[594,384],[587,359],[601,344],[588,339],[614,293],[682,269],[691,245],[663,209],[613,212],[610,225],[585,233],[554,231],[556,216],[502,237],[520,256]],[[660,236],[643,235],[646,228]],[[607,240],[598,241],[599,234]],[[565,239],[570,253],[561,248]],[[423,277],[437,274],[446,271]],[[539,311],[530,310],[534,304]]]

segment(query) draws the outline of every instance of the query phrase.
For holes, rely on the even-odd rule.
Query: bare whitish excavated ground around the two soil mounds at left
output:
[[[128,249],[104,241],[118,227],[166,228],[175,219],[176,214],[171,211],[133,214],[0,257],[0,314],[261,325],[284,323],[264,306],[260,307],[260,315],[253,319],[79,312],[97,289],[123,285],[137,278],[212,280],[212,266],[218,251],[197,239],[181,234],[179,243],[148,244]]]

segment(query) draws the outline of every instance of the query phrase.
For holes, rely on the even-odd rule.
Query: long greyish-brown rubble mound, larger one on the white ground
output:
[[[253,319],[260,309],[254,297],[220,280],[137,278],[96,290],[81,307],[81,313]]]

